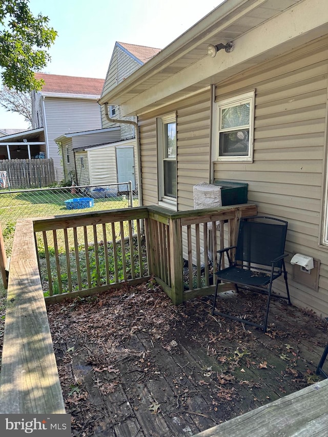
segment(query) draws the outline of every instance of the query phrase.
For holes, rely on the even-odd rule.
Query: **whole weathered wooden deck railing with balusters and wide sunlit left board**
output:
[[[202,258],[209,256],[210,250],[212,253],[215,252],[217,241],[221,245],[223,239],[227,238],[233,243],[239,218],[254,214],[256,214],[255,205],[237,205],[221,207],[217,210],[179,213],[170,213],[154,206],[39,220],[18,220],[9,270],[0,375],[0,413],[65,412],[40,280],[40,256],[36,251],[37,234],[41,233],[44,238],[48,280],[52,283],[53,267],[50,261],[48,262],[50,260],[49,245],[47,245],[49,233],[52,234],[54,244],[51,252],[54,254],[58,294],[54,294],[53,287],[51,295],[49,285],[49,296],[46,297],[49,303],[69,296],[73,298],[78,295],[90,295],[100,290],[109,290],[127,281],[132,284],[139,283],[153,275],[162,284],[173,303],[179,304],[184,299],[213,293],[213,285],[210,284],[209,279],[210,266],[207,267],[208,273],[203,273],[204,282],[199,279],[202,277]],[[220,233],[226,234],[223,237],[219,237],[218,222],[221,227]],[[211,249],[208,249],[211,246],[207,237],[208,223],[212,223],[213,247]],[[83,227],[83,244],[79,244],[77,240],[77,227]],[[203,227],[202,233],[201,227]],[[91,234],[89,228],[92,230]],[[99,228],[100,234],[98,234]],[[119,230],[118,233],[117,230]],[[87,266],[86,282],[81,276],[81,268],[77,267],[77,287],[69,289],[69,293],[63,293],[63,281],[61,286],[60,280],[58,281],[59,277],[63,278],[61,276],[61,254],[56,249],[59,232],[63,233],[66,243],[64,258],[66,268],[70,271],[72,271],[71,259],[75,259],[76,266],[80,267],[83,259],[81,252],[87,248],[83,254]],[[72,248],[68,244],[69,232],[73,233]],[[186,245],[182,243],[184,232],[187,238]],[[92,241],[90,252],[94,252],[92,268],[89,267],[91,264],[90,238]],[[146,245],[146,254],[142,252],[142,245]],[[203,248],[202,253],[200,247]],[[100,249],[105,254],[105,283],[101,283],[103,273],[100,269]],[[193,272],[196,272],[197,288],[191,286],[186,290],[183,284],[183,258],[185,256],[190,263],[194,264]],[[121,267],[118,258],[120,258]],[[138,262],[137,266],[133,264],[135,259]],[[120,268],[122,277],[118,274]],[[188,275],[189,278],[191,276]]]

